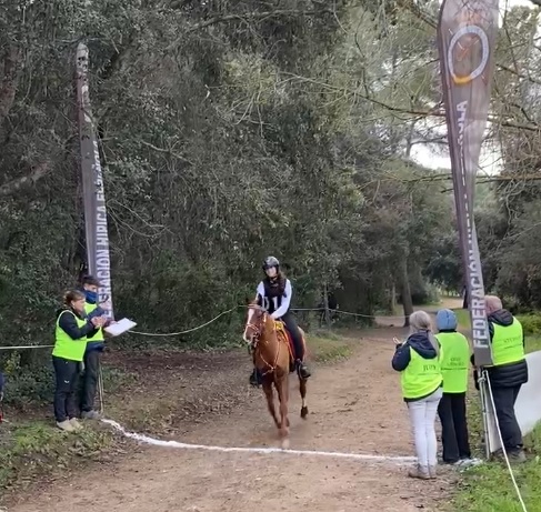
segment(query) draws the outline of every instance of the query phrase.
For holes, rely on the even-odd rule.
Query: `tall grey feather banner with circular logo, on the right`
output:
[[[475,365],[492,363],[484,284],[473,199],[479,157],[487,128],[498,33],[498,0],[444,0],[438,23],[443,100],[459,227],[467,279]],[[493,411],[480,383],[488,452],[494,439]]]

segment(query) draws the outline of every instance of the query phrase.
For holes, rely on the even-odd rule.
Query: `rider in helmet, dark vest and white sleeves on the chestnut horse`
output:
[[[274,257],[266,258],[263,261],[263,271],[267,275],[258,284],[256,301],[270,313],[273,320],[281,320],[285,324],[285,329],[293,341],[295,368],[302,379],[308,379],[310,371],[303,362],[304,345],[302,343],[302,335],[290,311],[291,297],[293,294],[291,281],[280,272],[280,262]],[[250,383],[252,385],[259,384],[257,369],[250,375]]]

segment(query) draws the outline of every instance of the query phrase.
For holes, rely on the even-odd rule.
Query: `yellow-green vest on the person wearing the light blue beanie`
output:
[[[442,348],[441,374],[444,393],[465,393],[468,391],[468,368],[470,345],[460,332],[435,334]]]

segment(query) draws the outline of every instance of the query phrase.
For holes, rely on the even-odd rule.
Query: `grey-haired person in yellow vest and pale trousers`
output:
[[[438,465],[435,414],[442,396],[440,357],[442,351],[432,333],[430,315],[415,311],[410,315],[411,334],[397,344],[392,368],[401,372],[402,395],[408,405],[415,441],[417,466],[409,471],[415,479],[434,479]]]

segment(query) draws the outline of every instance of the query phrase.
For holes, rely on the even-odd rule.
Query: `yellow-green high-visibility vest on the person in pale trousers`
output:
[[[424,359],[410,347],[410,363],[401,374],[403,398],[414,400],[428,396],[439,388],[441,381],[439,358]]]

